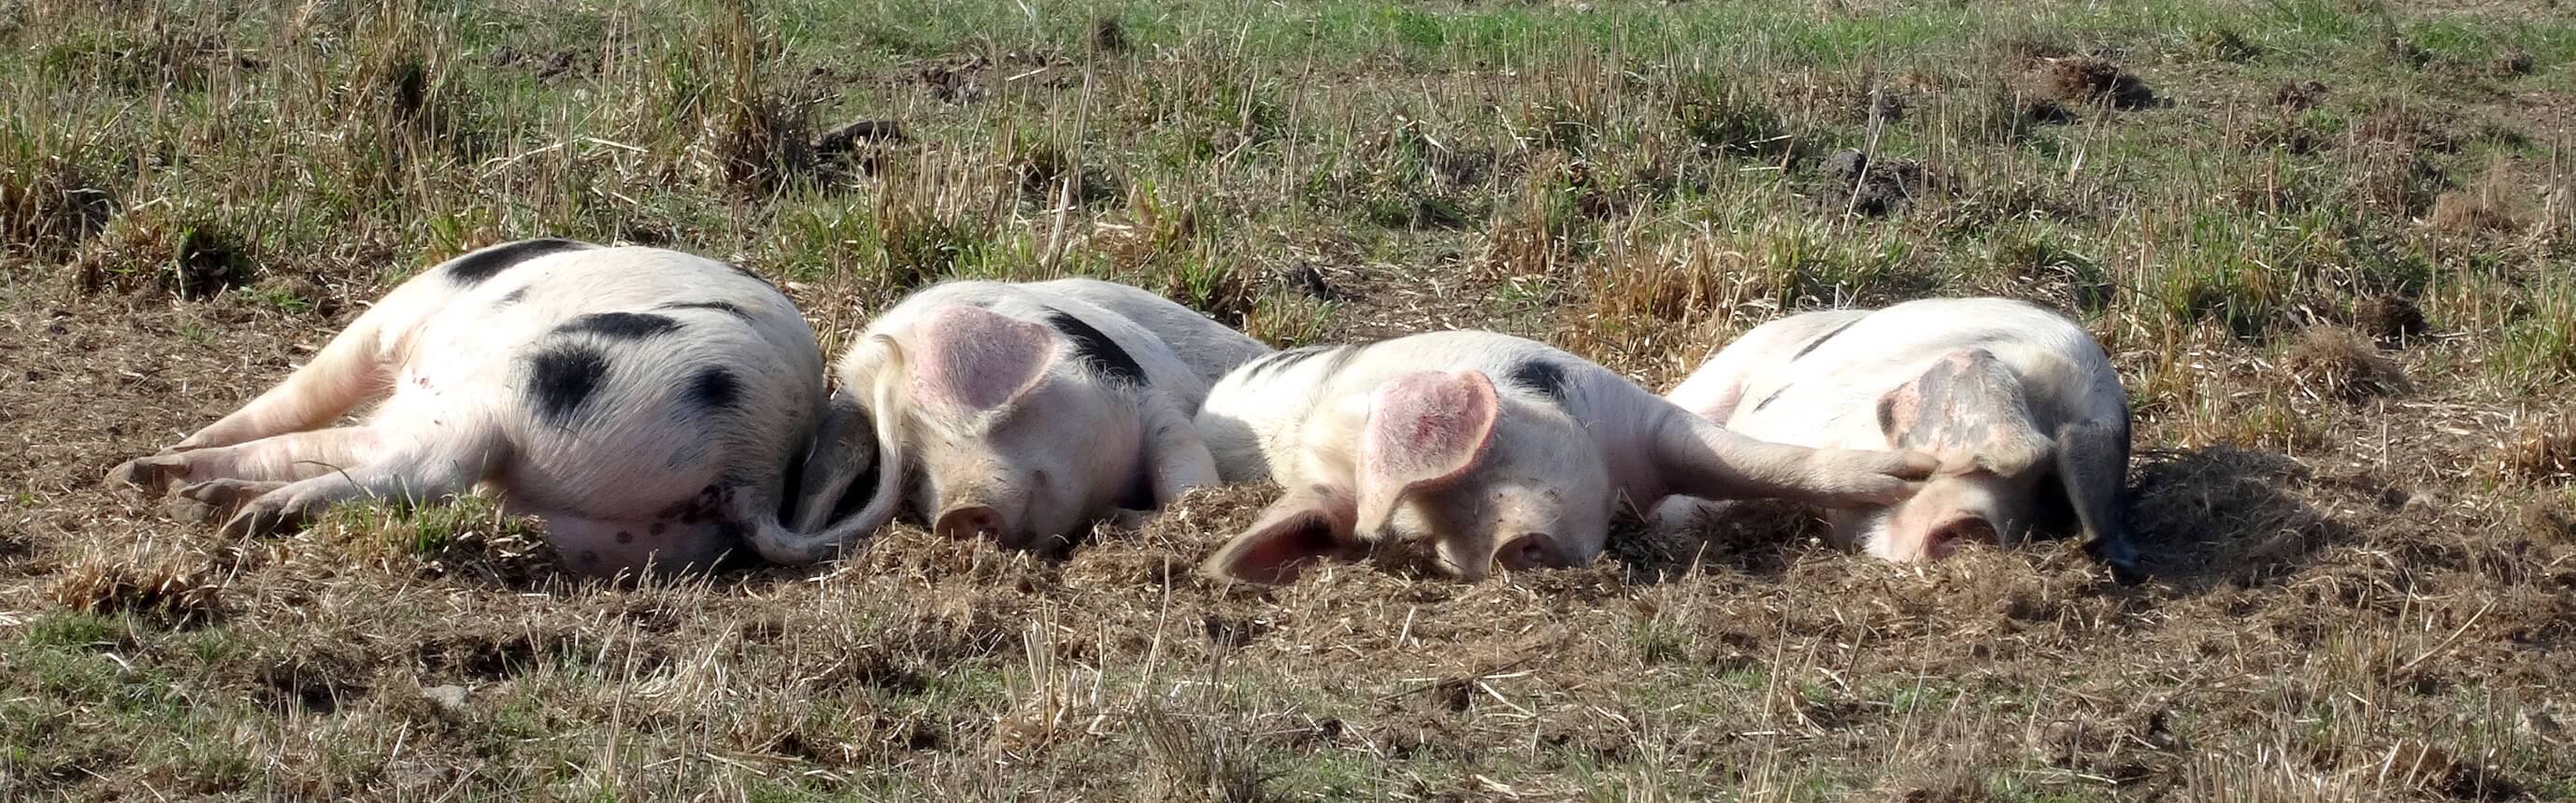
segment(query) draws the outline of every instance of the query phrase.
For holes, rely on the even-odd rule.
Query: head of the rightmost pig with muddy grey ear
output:
[[[1937,561],[1968,543],[2012,546],[2043,515],[2053,445],[2020,378],[1991,353],[1942,355],[1878,399],[1878,427],[1888,445],[1929,453],[1940,468],[1911,499],[1844,522],[1873,556]]]

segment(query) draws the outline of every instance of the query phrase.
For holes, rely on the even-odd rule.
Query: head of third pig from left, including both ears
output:
[[[1497,394],[1479,371],[1381,383],[1355,440],[1352,486],[1288,489],[1208,571],[1283,582],[1365,543],[1427,543],[1443,571],[1481,579],[1497,564],[1589,561],[1610,525],[1592,435],[1553,404]]]

